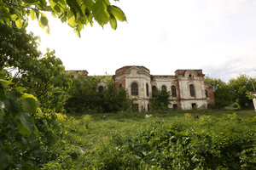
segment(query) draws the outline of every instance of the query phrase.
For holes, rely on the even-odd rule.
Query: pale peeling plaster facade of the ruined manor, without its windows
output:
[[[189,77],[189,74],[192,77]],[[172,94],[172,85],[176,87],[177,97],[180,96],[180,100],[177,98],[171,98],[172,105],[169,105],[170,108],[173,107],[173,104],[181,106],[183,110],[192,109],[192,103],[202,107],[203,105],[207,106],[207,99],[205,94],[205,83],[203,77],[197,77],[195,71],[187,71],[184,76],[178,75],[177,77],[154,77],[154,82],[151,82],[150,75],[137,67],[132,67],[124,72],[124,74],[115,77],[118,81],[120,78],[125,77],[125,89],[128,92],[130,99],[135,99],[134,104],[138,104],[139,111],[148,111],[149,99],[152,97],[152,86],[155,85],[158,89],[161,89],[163,85],[166,86],[166,90],[170,91]],[[178,85],[177,85],[178,79]],[[192,80],[193,79],[193,80]],[[138,95],[131,96],[131,83],[137,82],[138,84]],[[146,84],[148,83],[148,96],[146,93]],[[194,84],[195,87],[195,97],[190,96],[189,85]],[[178,87],[179,86],[179,90]]]

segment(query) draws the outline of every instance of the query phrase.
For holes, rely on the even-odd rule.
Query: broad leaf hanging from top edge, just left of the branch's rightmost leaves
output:
[[[107,11],[107,4],[104,3],[103,0],[97,0],[96,3],[93,5],[92,14],[95,20],[99,23],[100,26],[104,26],[108,23],[110,15]]]

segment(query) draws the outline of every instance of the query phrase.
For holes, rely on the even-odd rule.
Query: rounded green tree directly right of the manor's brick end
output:
[[[205,77],[205,82],[208,82],[213,86],[215,106],[217,108],[223,108],[224,106],[232,104],[231,88],[226,82],[210,77]]]

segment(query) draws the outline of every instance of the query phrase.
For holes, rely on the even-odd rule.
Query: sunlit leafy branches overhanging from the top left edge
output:
[[[27,25],[28,17],[37,19],[38,25],[49,33],[49,23],[44,13],[51,13],[61,22],[67,22],[80,37],[80,31],[93,20],[100,26],[110,25],[115,30],[117,20],[125,21],[124,12],[108,0],[17,0],[0,1],[0,23],[8,26],[17,26],[19,29]]]

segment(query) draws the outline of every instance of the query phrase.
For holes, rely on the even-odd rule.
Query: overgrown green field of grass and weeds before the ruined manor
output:
[[[146,114],[152,116],[145,119]],[[103,115],[107,116],[107,120],[102,119]],[[214,168],[251,169],[256,167],[255,158],[250,158],[256,156],[255,117],[256,113],[253,110],[59,115],[58,120],[67,133],[66,144],[77,150],[78,155],[78,158],[72,161],[72,167],[64,168],[211,169],[211,166],[218,165],[218,168]],[[188,144],[183,144],[183,150],[189,152],[188,156],[178,158],[176,155],[184,154],[184,151],[170,152],[173,145],[179,143],[175,141],[171,147],[167,145],[170,141],[166,142],[169,137],[163,136],[168,136],[170,133],[166,132],[171,132],[173,127],[175,127],[175,132],[173,131],[175,135],[173,135],[176,136],[177,141],[189,139]],[[151,133],[154,133],[154,136]],[[211,145],[210,149],[209,145]],[[168,150],[168,153],[165,152],[166,154],[163,155],[162,149]],[[228,150],[236,150],[236,153]],[[226,152],[230,152],[227,158]],[[233,155],[237,154],[240,154],[237,157],[239,160],[233,158],[236,157]],[[242,154],[245,154],[243,158],[241,158]],[[166,158],[171,155],[172,158]],[[195,157],[197,161],[193,161]],[[222,159],[227,161],[223,162]],[[241,161],[242,159],[244,161]],[[161,162],[162,160],[169,161]],[[217,160],[216,165],[209,165],[211,160]],[[241,161],[241,163],[232,165],[233,161]]]

